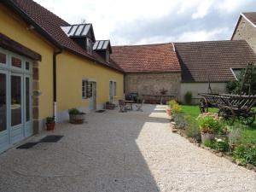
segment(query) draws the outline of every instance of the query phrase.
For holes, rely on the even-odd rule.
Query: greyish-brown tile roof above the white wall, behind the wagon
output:
[[[175,43],[183,82],[227,82],[234,79],[230,68],[256,61],[244,40]]]

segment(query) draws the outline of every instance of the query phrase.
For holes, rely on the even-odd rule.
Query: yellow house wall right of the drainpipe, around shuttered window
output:
[[[82,80],[96,81],[96,103],[109,101],[109,80],[117,82],[117,96],[123,98],[124,75],[94,61],[73,55],[67,51],[57,56],[57,109],[89,107],[89,99],[82,99]]]

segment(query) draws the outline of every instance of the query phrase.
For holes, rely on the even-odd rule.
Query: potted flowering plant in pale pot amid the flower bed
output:
[[[212,116],[205,116],[199,119],[200,131],[201,131],[201,141],[206,143],[206,141],[212,141],[215,134],[219,134],[222,129],[222,125],[218,119]]]

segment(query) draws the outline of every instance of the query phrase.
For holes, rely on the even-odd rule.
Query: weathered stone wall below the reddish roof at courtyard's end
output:
[[[125,74],[125,95],[137,92],[139,96],[160,95],[160,90],[167,90],[166,95],[179,97],[181,73],[130,73]]]

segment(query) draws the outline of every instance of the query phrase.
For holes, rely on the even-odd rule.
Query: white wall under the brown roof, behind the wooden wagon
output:
[[[212,93],[226,93],[226,83],[211,83]],[[180,101],[184,103],[185,94],[192,92],[192,102],[196,104],[199,102],[199,93],[207,93],[208,83],[182,83],[181,84],[181,98]]]

